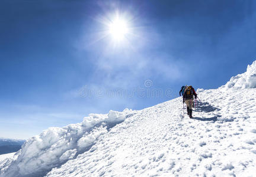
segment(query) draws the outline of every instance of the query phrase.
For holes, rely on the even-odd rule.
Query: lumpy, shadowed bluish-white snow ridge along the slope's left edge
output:
[[[110,110],[108,114],[89,114],[81,123],[50,127],[28,139],[15,159],[0,162],[0,176],[44,176],[52,168],[90,149],[99,136],[133,113],[129,109]]]

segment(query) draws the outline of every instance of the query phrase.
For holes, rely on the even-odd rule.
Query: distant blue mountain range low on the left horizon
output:
[[[0,155],[5,153],[17,152],[25,140],[0,138]]]

